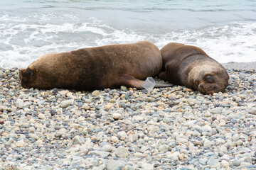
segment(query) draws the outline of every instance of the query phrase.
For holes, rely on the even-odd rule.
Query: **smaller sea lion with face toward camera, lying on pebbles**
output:
[[[201,48],[172,42],[160,51],[163,57],[160,79],[198,90],[201,94],[223,92],[228,86],[228,72]]]

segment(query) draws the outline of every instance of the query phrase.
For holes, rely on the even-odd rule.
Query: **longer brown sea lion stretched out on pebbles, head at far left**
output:
[[[142,41],[43,55],[21,69],[19,78],[24,88],[92,91],[123,85],[142,89],[142,80],[159,74],[161,67],[159,48]],[[171,85],[155,87],[161,86]]]

